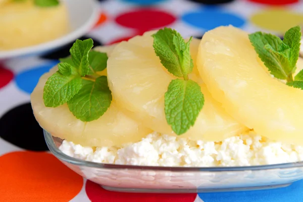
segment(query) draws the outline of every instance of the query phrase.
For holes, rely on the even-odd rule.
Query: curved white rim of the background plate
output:
[[[46,41],[32,46],[16,48],[10,51],[0,51],[0,59],[9,59],[13,57],[43,53],[51,49],[55,49],[59,46],[66,45],[69,42],[81,37],[94,26],[98,20],[99,14],[101,14],[98,12],[99,9],[96,6],[95,0],[86,0],[86,3],[90,5],[92,12],[89,19],[84,22],[79,28],[51,41]]]

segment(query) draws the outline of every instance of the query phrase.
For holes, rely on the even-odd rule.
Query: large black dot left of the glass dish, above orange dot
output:
[[[0,118],[0,137],[24,149],[48,150],[30,103],[18,106]]]

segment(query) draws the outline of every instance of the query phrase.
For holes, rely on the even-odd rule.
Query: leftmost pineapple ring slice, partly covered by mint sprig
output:
[[[97,47],[95,50],[107,52],[110,55],[112,48]],[[57,108],[45,107],[42,98],[43,88],[47,78],[57,70],[55,67],[41,76],[31,94],[31,105],[37,121],[53,136],[83,146],[112,146],[141,140],[151,132],[122,113],[114,100],[102,117],[91,122],[82,122],[74,117],[67,104]],[[99,74],[106,75],[106,70]]]

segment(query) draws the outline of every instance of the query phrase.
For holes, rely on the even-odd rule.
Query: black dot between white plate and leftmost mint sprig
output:
[[[92,38],[92,37],[83,36],[83,37],[81,37],[79,39],[80,40],[85,40],[85,39],[88,39],[88,38]],[[92,40],[93,40],[93,46],[103,45],[97,39],[92,38]],[[50,60],[58,60],[59,58],[68,57],[70,55],[69,50],[72,47],[73,43],[74,42],[69,43],[67,45],[64,45],[64,46],[58,48],[56,51],[54,51],[52,53],[48,53],[46,55],[41,56],[41,58],[50,59]]]

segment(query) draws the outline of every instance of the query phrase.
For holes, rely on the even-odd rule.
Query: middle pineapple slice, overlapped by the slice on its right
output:
[[[175,135],[167,124],[164,112],[164,94],[171,80],[175,79],[160,63],[153,48],[152,32],[121,42],[108,60],[108,80],[117,106],[148,128]],[[195,63],[198,39],[191,42]],[[205,105],[195,125],[183,137],[219,141],[247,130],[220,107],[201,83],[196,67],[189,78],[197,81],[205,95]]]

